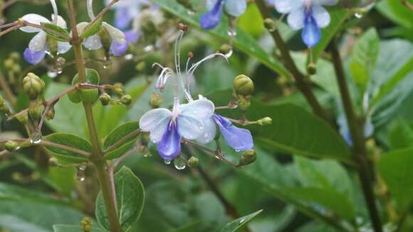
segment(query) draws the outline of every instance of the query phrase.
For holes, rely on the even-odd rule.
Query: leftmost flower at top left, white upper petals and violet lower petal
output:
[[[40,25],[41,23],[53,23],[61,28],[67,28],[66,21],[61,16],[58,16],[56,2],[52,0],[51,4],[53,6],[52,21],[49,21],[47,18],[36,13],[28,13],[21,18],[23,21],[36,25]],[[37,33],[28,43],[28,48],[24,50],[24,60],[32,65],[36,65],[44,59],[46,54],[51,54],[48,48],[48,35],[46,32],[42,31],[40,28],[34,28],[32,26],[24,26],[20,28],[20,30],[26,33]],[[70,48],[71,46],[68,42],[58,41],[57,43],[58,54],[67,53]]]

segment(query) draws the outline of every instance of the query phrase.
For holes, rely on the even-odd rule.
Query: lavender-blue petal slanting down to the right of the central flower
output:
[[[219,126],[219,131],[226,143],[235,150],[249,150],[253,148],[253,139],[249,130],[234,126],[231,121],[214,114],[214,121]]]

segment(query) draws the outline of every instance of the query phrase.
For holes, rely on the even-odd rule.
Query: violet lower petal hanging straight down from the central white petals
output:
[[[181,136],[178,133],[176,121],[170,121],[167,131],[157,143],[157,150],[164,160],[173,160],[181,153]]]

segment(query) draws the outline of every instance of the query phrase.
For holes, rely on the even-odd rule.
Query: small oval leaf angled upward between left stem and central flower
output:
[[[125,123],[122,126],[119,126],[113,130],[109,136],[105,139],[103,143],[103,149],[108,149],[115,143],[119,143],[122,138],[128,136],[129,138],[122,140],[122,143],[115,145],[110,149],[109,153],[105,154],[105,158],[112,160],[119,158],[124,155],[130,148],[132,148],[133,143],[139,136],[139,124],[137,122]]]

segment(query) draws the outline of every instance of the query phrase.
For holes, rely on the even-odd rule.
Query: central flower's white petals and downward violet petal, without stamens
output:
[[[152,109],[140,118],[142,131],[150,132],[150,140],[157,143],[157,151],[164,160],[172,160],[181,153],[181,139],[196,140],[204,135],[206,118],[211,118],[215,106],[200,99],[188,104],[174,105],[174,109]]]

